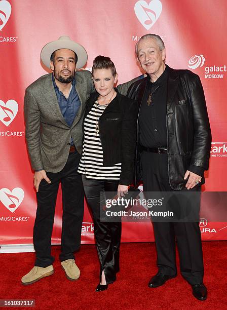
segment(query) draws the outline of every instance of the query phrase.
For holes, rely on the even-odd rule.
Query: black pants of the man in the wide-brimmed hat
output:
[[[33,230],[36,252],[35,266],[47,267],[54,262],[51,256],[51,235],[59,184],[62,188],[62,231],[60,260],[74,259],[73,252],[81,245],[81,228],[84,215],[84,191],[81,175],[77,172],[80,154],[69,154],[64,168],[57,173],[47,172],[51,183],[40,183],[36,193],[37,210]]]

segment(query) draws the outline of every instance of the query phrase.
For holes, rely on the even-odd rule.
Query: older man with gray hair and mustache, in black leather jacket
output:
[[[119,86],[139,103],[137,159],[144,191],[201,191],[208,169],[211,132],[203,87],[197,74],[174,70],[165,63],[166,49],[157,34],[137,42],[137,60],[147,77]],[[139,167],[137,165],[137,167]],[[169,207],[175,208],[169,204]],[[196,205],[193,206],[199,218]],[[198,221],[154,221],[158,274],[148,286],[156,288],[176,277],[175,240],[180,270],[199,300],[207,298],[203,284],[203,255]]]

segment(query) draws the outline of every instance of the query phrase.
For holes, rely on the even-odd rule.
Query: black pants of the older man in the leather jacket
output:
[[[173,191],[169,184],[167,154],[141,153],[144,191]],[[187,190],[187,189],[186,189]],[[201,186],[191,190],[200,191]],[[153,222],[159,272],[177,274],[175,240],[181,275],[190,284],[203,282],[203,253],[198,222]]]

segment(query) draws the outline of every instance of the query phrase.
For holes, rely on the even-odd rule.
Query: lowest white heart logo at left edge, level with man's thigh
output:
[[[8,188],[0,189],[0,201],[12,213],[17,210],[23,199],[24,191],[20,187],[15,187],[12,191]]]

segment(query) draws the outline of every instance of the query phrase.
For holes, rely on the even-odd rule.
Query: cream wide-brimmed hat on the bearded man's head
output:
[[[42,51],[41,51],[41,60],[47,66],[50,68],[50,58],[51,54],[57,50],[60,49],[69,49],[78,56],[78,62],[77,62],[77,68],[82,68],[87,60],[88,60],[88,54],[86,50],[78,43],[75,43],[74,41],[70,40],[69,36],[62,35],[59,37],[57,41],[52,41],[46,44]]]

